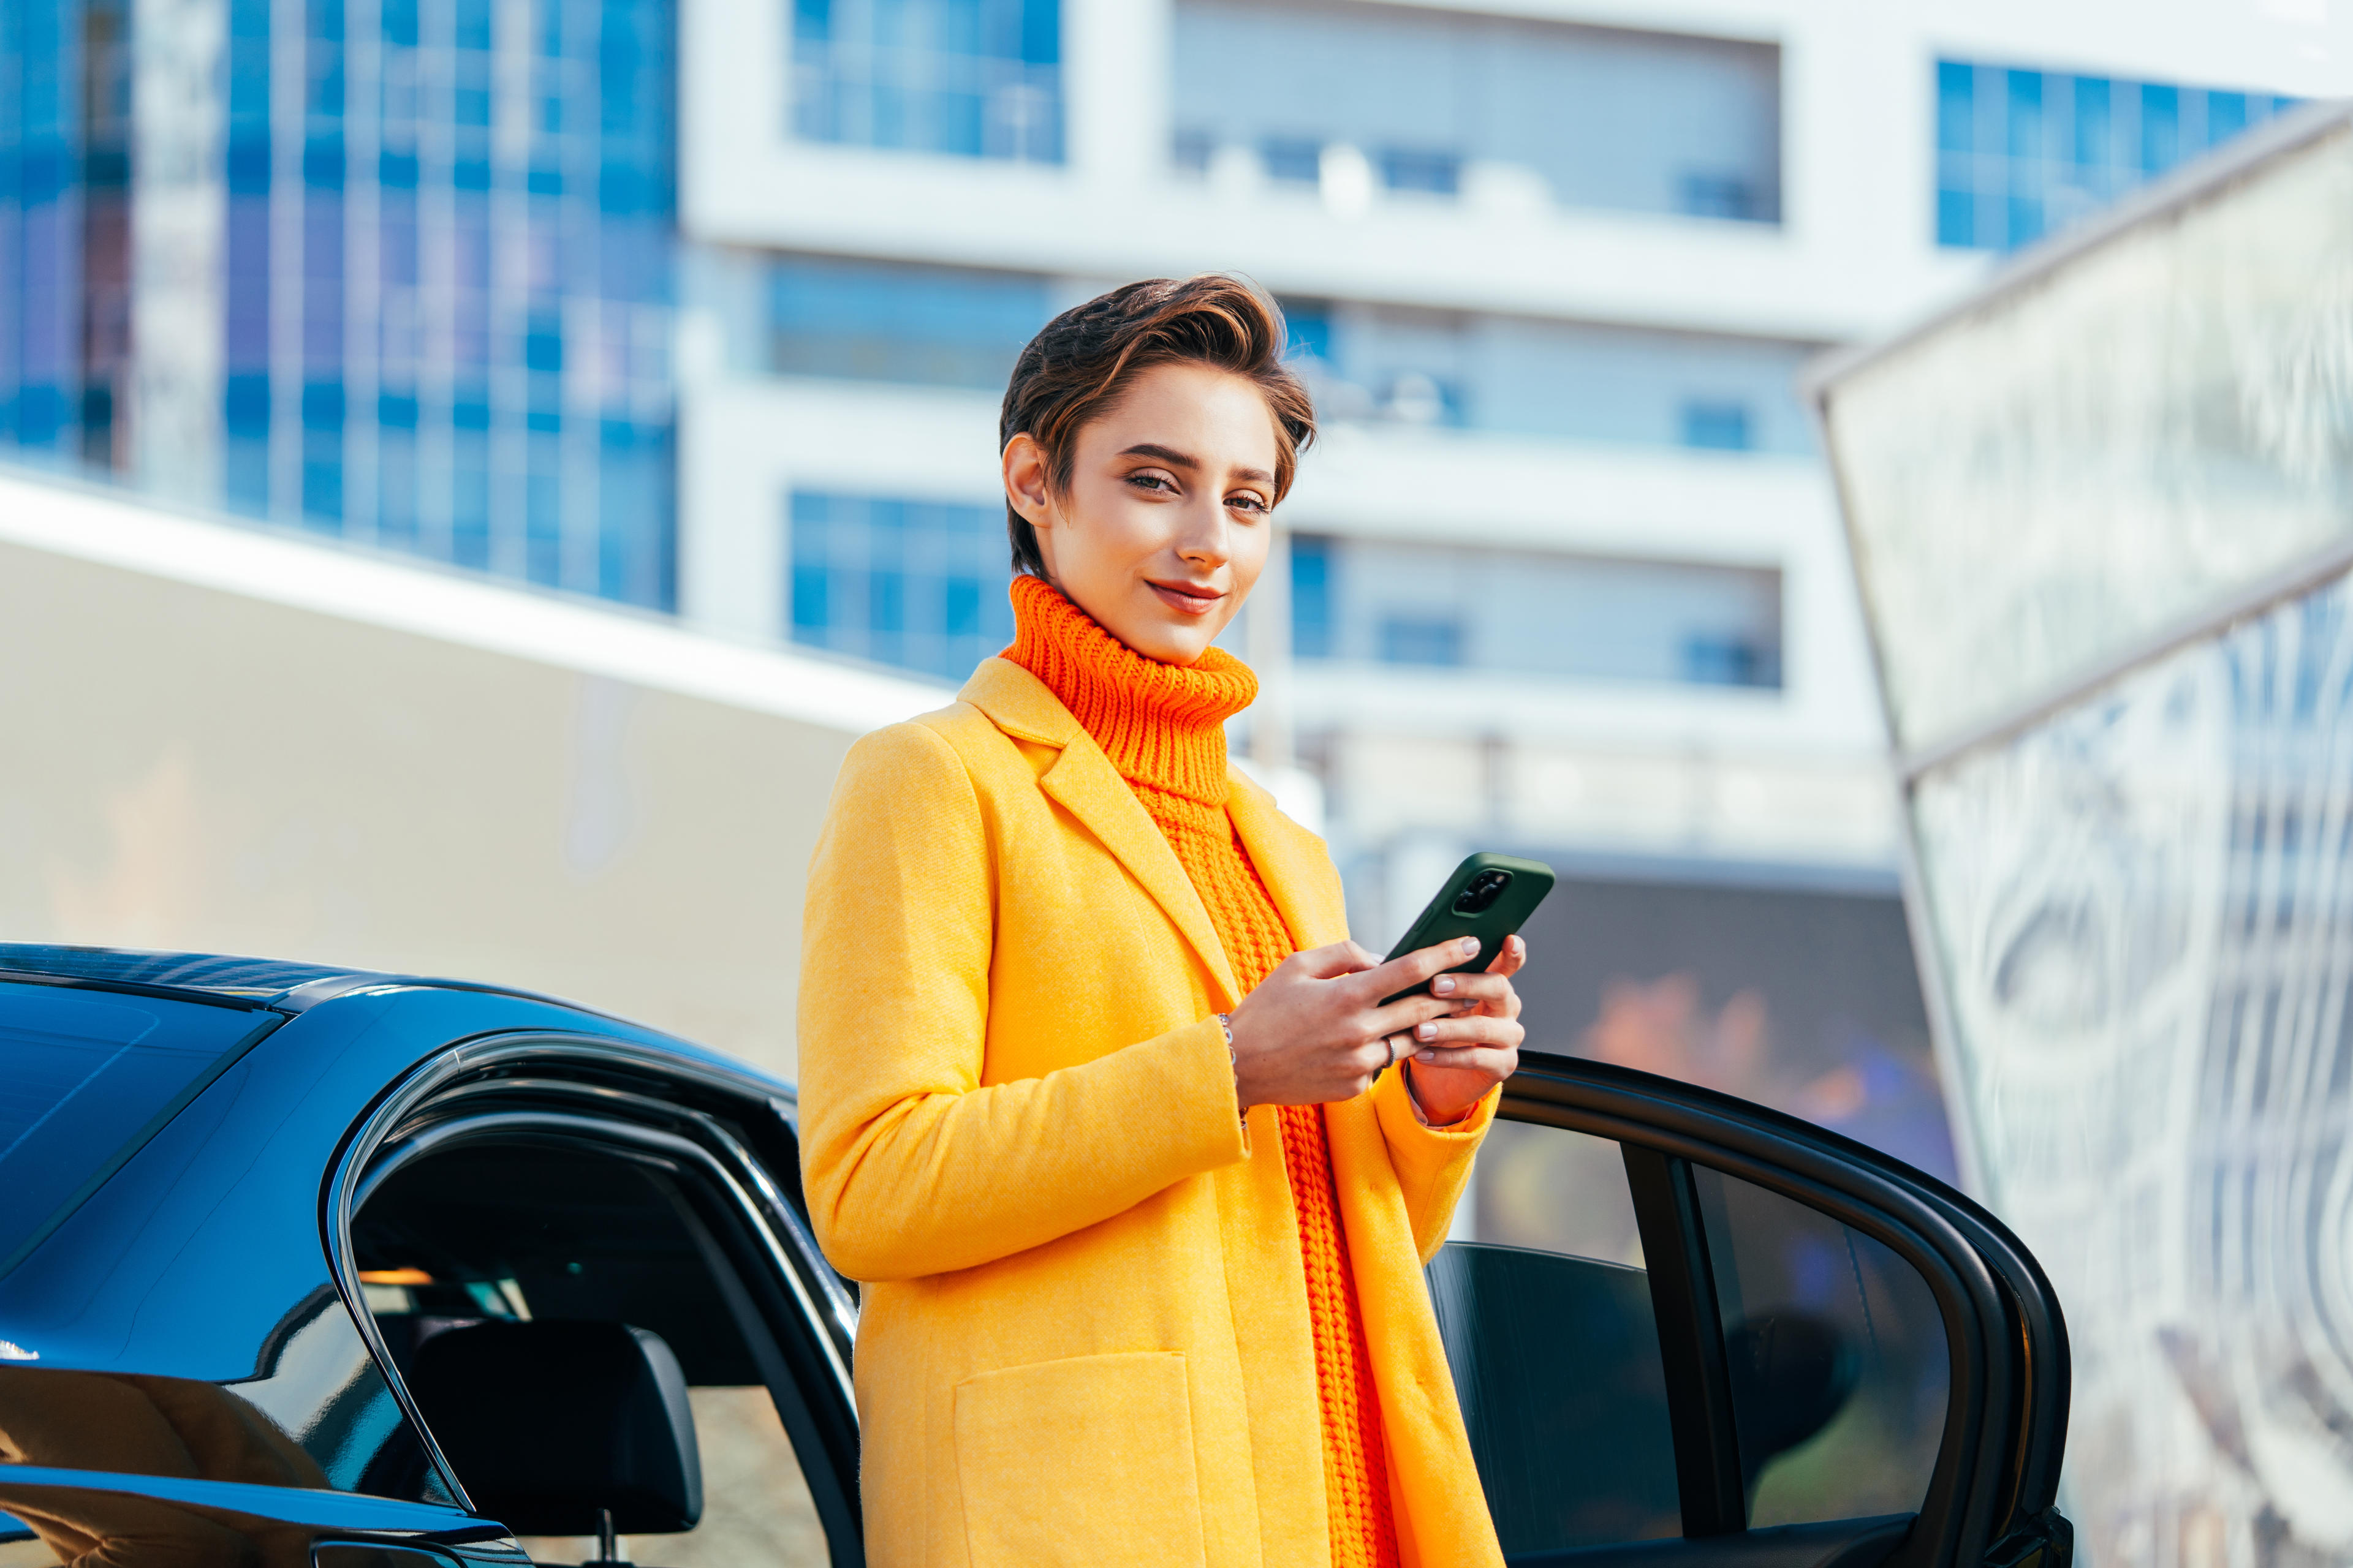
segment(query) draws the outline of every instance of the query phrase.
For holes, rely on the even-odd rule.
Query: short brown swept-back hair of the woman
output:
[[[1315,404],[1282,364],[1282,310],[1221,273],[1151,277],[1064,310],[1028,341],[1005,383],[998,451],[1028,435],[1045,451],[1047,482],[1071,487],[1078,430],[1101,416],[1153,364],[1214,364],[1247,378],[1275,416],[1275,501],[1292,489],[1299,454],[1315,440]],[[1045,576],[1038,531],[1005,503],[1014,571]]]

